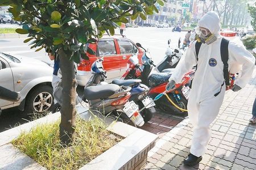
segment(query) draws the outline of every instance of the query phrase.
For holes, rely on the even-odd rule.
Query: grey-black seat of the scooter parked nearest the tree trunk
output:
[[[119,88],[117,84],[104,84],[101,86],[90,86],[84,90],[85,99],[96,100],[105,99],[113,95]]]

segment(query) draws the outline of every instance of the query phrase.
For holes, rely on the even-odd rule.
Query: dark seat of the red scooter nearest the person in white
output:
[[[170,73],[154,73],[148,77],[148,84],[152,87],[168,82]]]

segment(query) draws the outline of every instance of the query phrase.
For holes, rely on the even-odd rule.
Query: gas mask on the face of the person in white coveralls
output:
[[[217,37],[214,36],[208,29],[205,28],[196,28],[196,40],[207,45],[212,44],[212,42],[217,40]]]

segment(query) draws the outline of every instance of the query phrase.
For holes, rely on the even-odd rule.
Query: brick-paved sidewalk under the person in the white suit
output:
[[[207,152],[199,165],[186,167],[192,126],[188,118],[168,131],[148,153],[145,169],[256,169],[256,125],[249,124],[256,95],[256,71],[241,91],[227,91],[211,125]]]

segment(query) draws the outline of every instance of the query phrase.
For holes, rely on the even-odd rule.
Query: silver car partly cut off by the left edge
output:
[[[38,59],[13,57],[0,52],[0,86],[18,92],[20,100],[0,99],[0,108],[17,107],[24,113],[43,113],[53,107],[53,68]]]

